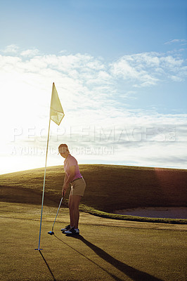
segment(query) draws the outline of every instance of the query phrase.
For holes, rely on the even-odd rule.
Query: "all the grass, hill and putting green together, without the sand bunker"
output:
[[[109,214],[129,207],[185,206],[186,170],[80,165],[86,180],[79,229],[67,237],[67,197],[51,236],[63,185],[63,167],[47,168],[39,240],[44,169],[0,176],[2,281],[185,281],[186,220]],[[94,214],[94,216],[92,215]],[[113,219],[117,218],[117,219]],[[125,221],[124,221],[125,220]],[[158,223],[162,222],[162,223]]]

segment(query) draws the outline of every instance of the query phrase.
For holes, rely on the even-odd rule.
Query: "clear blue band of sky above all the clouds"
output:
[[[1,1],[1,44],[44,53],[120,55],[169,51],[186,38],[186,1]],[[162,47],[161,47],[162,46]]]

